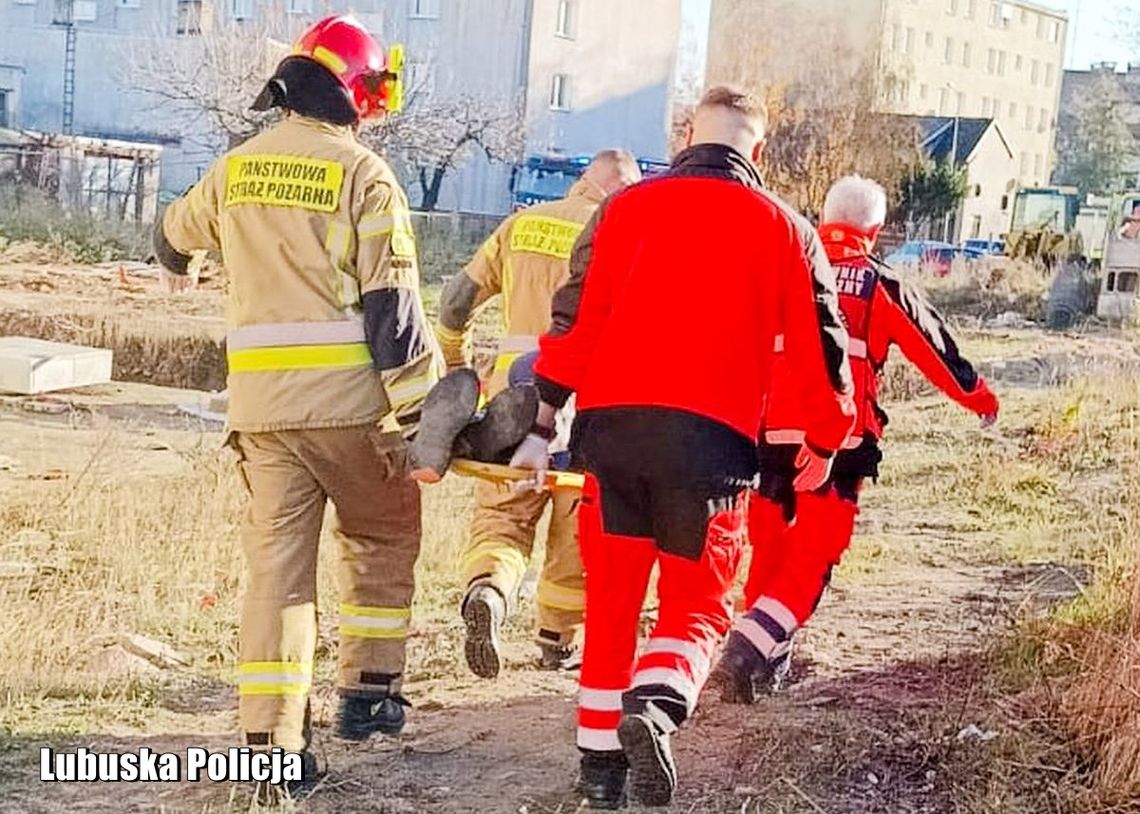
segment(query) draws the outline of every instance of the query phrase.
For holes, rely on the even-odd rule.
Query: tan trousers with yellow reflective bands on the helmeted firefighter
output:
[[[250,744],[302,749],[317,644],[317,547],[336,510],[336,685],[399,692],[420,553],[420,489],[399,433],[373,426],[234,433],[250,500],[242,523],[238,713]]]

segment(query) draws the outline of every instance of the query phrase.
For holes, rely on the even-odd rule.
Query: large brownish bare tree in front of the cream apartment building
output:
[[[766,100],[764,176],[806,212],[819,213],[831,184],[850,172],[895,190],[920,157],[914,127],[880,113],[904,79],[871,27],[852,19],[869,9],[846,0],[714,6],[709,80]]]

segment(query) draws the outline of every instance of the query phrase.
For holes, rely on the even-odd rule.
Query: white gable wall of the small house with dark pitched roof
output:
[[[978,141],[967,164],[968,192],[958,218],[959,239],[996,239],[1009,231],[1011,211],[1002,209],[1002,197],[1012,206],[1017,161],[1005,145],[999,125],[992,124]]]

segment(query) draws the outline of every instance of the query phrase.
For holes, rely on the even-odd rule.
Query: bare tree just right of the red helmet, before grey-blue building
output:
[[[474,93],[435,99],[423,92],[413,92],[409,99],[407,109],[386,116],[364,136],[418,188],[421,210],[434,210],[443,179],[475,155],[508,164],[522,157],[526,128],[520,101]]]

